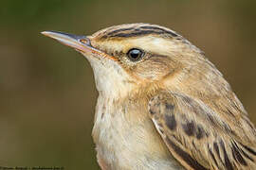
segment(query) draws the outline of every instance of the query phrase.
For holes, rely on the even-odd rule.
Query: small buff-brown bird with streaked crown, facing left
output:
[[[205,53],[174,30],[136,23],[90,36],[42,33],[93,69],[102,170],[256,169],[247,110]]]

